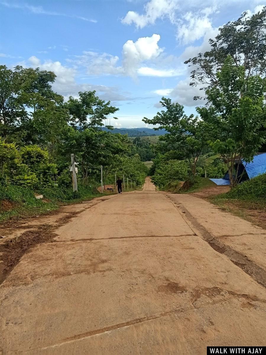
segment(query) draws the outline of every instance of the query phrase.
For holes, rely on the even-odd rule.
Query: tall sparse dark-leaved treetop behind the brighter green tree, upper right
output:
[[[265,77],[266,7],[251,17],[243,12],[237,21],[220,27],[218,35],[209,43],[210,51],[185,61],[192,68],[191,86],[201,84],[201,90],[217,86],[216,72],[221,70],[228,55],[236,67],[243,67],[246,77]]]

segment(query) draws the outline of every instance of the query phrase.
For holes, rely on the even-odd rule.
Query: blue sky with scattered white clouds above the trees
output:
[[[64,96],[96,94],[118,107],[115,127],[144,127],[164,95],[195,113],[199,87],[184,61],[218,28],[263,0],[0,0],[0,64],[56,73]]]

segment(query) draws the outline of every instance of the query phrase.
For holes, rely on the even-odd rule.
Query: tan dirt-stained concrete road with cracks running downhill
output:
[[[147,178],[142,191],[91,203],[24,254],[0,288],[0,354],[201,355],[211,345],[265,346],[259,251],[245,264],[254,268],[249,275],[234,260],[242,251],[217,251],[180,208],[187,197],[172,196]],[[210,204],[188,198],[214,228],[209,218],[218,223],[223,213],[208,217]],[[262,250],[266,231],[232,218],[233,228],[245,228],[236,238],[253,228],[248,240]]]

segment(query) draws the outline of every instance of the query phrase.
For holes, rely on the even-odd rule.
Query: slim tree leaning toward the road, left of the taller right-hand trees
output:
[[[144,117],[143,122],[159,125],[154,130],[166,129],[169,132],[161,136],[160,140],[174,144],[179,159],[187,159],[192,174],[195,175],[197,160],[207,147],[201,122],[197,116],[194,118],[194,115],[185,115],[184,106],[172,103],[169,98],[163,97],[160,103],[166,110],[158,112],[153,119]]]

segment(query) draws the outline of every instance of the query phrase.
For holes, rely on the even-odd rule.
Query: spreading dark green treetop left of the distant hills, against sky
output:
[[[110,101],[105,102],[95,96],[96,91],[79,92],[79,98],[70,96],[66,107],[70,113],[69,123],[80,131],[86,128],[97,128],[104,126],[104,121],[110,114],[114,114],[119,108],[110,105]],[[116,117],[113,117],[117,119]],[[108,129],[113,126],[105,125]]]

